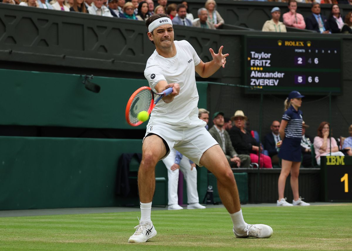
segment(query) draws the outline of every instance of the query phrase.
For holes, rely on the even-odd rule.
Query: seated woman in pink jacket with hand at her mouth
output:
[[[331,137],[330,124],[328,122],[321,122],[318,128],[318,136],[314,138],[314,151],[316,163],[320,166],[320,157],[330,155],[331,156],[345,156],[345,154],[339,151],[336,140]],[[331,149],[330,149],[331,144]]]

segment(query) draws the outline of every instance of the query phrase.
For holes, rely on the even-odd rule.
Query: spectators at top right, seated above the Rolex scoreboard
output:
[[[312,14],[303,17],[297,13],[297,0],[289,0],[289,11],[282,15],[283,22],[280,22],[281,9],[274,7],[271,9],[272,19],[265,22],[262,31],[286,32],[286,27],[306,29],[319,33],[350,33],[352,34],[352,12],[348,12],[345,17],[340,14],[339,5],[333,3],[329,17],[320,14],[320,4],[312,3]]]

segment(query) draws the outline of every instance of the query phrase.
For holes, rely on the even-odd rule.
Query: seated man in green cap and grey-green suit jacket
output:
[[[237,154],[232,146],[230,135],[224,127],[224,113],[215,112],[213,115],[214,126],[209,129],[210,135],[219,143],[222,151],[224,151],[228,163],[231,167],[249,168],[251,157],[246,154]]]

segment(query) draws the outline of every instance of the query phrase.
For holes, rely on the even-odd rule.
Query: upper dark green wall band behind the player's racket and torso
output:
[[[98,94],[88,91],[80,75],[0,69],[0,125],[145,129],[125,120],[132,93],[142,79],[94,77]],[[207,104],[207,83],[197,84],[199,107]]]

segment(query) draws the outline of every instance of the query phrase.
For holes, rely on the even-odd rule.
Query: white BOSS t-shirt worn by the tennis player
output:
[[[159,101],[152,110],[149,123],[163,124],[171,129],[205,126],[206,122],[198,118],[198,91],[194,66],[201,60],[194,48],[186,40],[174,41],[176,55],[164,58],[155,50],[147,60],[144,76],[154,91],[155,85],[165,80],[168,84],[178,83],[180,93],[168,104]]]

